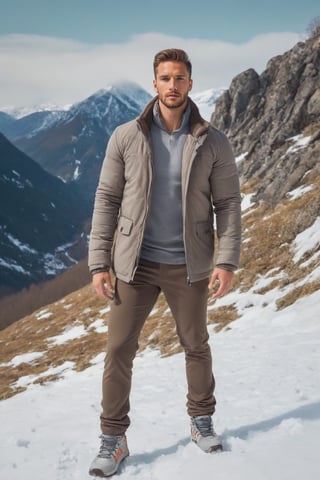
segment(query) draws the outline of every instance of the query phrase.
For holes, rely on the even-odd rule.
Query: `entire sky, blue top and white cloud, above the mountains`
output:
[[[303,38],[319,1],[1,0],[0,108],[69,103],[118,80],[152,93],[153,55],[191,56],[194,91],[228,86]]]

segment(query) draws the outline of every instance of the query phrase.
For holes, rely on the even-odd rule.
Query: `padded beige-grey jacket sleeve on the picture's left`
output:
[[[111,267],[111,251],[125,184],[117,129],[110,137],[95,195],[89,240],[89,270]]]

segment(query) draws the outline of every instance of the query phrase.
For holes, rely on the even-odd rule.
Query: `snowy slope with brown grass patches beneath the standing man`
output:
[[[312,203],[316,185],[290,192],[286,208],[291,216],[301,202],[305,209]],[[285,205],[278,213],[267,211],[261,220],[259,213],[254,217],[259,207],[251,199],[251,193],[243,196],[244,257],[257,255],[260,243],[267,245],[262,227],[263,241],[261,236],[252,240],[259,221],[272,231],[285,223],[277,219]],[[217,382],[215,426],[225,445],[221,454],[204,454],[190,443],[184,355],[163,357],[150,348],[161,351],[165,344],[172,347],[165,353],[176,351],[168,309],[157,303],[134,363],[131,455],[122,478],[318,479],[319,247],[316,218],[290,243],[283,236],[282,244],[271,246],[264,256],[258,251],[254,268],[246,260],[237,274],[238,287],[208,303]],[[273,250],[282,256],[290,252],[285,257],[288,270],[280,268]],[[237,313],[237,320],[219,330],[228,309]],[[109,310],[88,285],[0,332],[1,478],[38,480],[43,472],[47,480],[88,478],[99,445]]]

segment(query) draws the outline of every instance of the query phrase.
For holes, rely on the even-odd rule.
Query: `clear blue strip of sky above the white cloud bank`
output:
[[[315,0],[2,0],[0,33],[118,43],[159,32],[245,42],[261,33],[303,33],[317,15]]]

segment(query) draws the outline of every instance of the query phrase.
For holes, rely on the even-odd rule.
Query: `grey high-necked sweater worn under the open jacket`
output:
[[[154,180],[141,258],[167,264],[184,264],[181,165],[189,133],[190,106],[178,130],[168,132],[154,105],[150,136]]]

